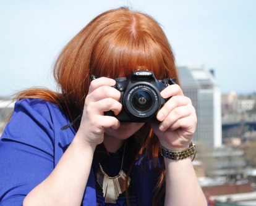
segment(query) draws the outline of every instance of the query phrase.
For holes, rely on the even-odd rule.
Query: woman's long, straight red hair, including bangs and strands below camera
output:
[[[117,78],[129,77],[134,70],[155,73],[158,80],[177,77],[174,55],[160,25],[150,16],[126,7],[98,15],[64,47],[54,65],[54,78],[59,87],[27,89],[17,99],[41,98],[54,104],[69,102],[82,110],[90,86],[90,75]],[[135,134],[142,151],[158,158],[159,141],[145,124]],[[145,137],[146,136],[146,137]],[[164,184],[164,167],[156,194]],[[164,192],[164,190],[163,190]],[[159,202],[156,196],[155,204]]]

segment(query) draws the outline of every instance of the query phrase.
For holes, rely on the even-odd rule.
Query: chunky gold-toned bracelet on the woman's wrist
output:
[[[160,152],[163,157],[166,157],[171,160],[183,160],[187,157],[195,155],[195,144],[190,142],[189,148],[182,150],[180,152],[174,152],[160,145]]]

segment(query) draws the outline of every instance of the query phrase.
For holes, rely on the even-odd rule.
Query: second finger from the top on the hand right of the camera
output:
[[[174,110],[176,107],[181,107],[184,105],[192,105],[191,99],[189,99],[186,96],[173,96],[171,99],[169,99],[163,107],[159,110],[158,114],[156,115],[156,118],[162,122],[169,113]]]

